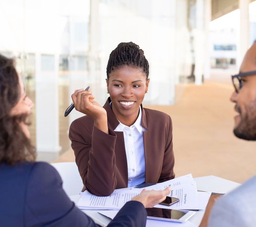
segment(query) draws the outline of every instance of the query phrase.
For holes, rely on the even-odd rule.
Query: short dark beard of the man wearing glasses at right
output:
[[[238,106],[236,109],[241,113]],[[240,139],[256,140],[256,100],[246,105],[245,109],[246,113],[240,115],[241,121],[233,132]]]

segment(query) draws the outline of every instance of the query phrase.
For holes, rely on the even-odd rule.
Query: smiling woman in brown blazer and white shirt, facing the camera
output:
[[[83,89],[72,95],[76,110],[87,115],[69,129],[83,190],[108,196],[116,188],[174,178],[172,120],[142,106],[148,75],[143,50],[120,43],[109,56],[105,105]]]

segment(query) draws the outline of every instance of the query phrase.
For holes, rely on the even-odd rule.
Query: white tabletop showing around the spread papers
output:
[[[215,192],[226,194],[233,189],[237,188],[240,184],[229,181],[216,176],[205,176],[205,177],[197,177],[194,178],[196,181],[196,186],[198,191],[207,191],[207,192]],[[80,195],[69,196],[69,198],[74,201],[75,204],[78,203]],[[110,222],[109,218],[98,213],[97,210],[83,210],[88,216],[90,216],[95,223],[101,226],[107,226]],[[204,210],[196,211],[196,214],[189,219],[189,221],[196,226],[199,226],[204,215]]]

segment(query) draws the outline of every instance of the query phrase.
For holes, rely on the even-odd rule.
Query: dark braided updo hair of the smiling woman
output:
[[[146,74],[146,79],[149,74],[148,61],[144,55],[144,51],[140,49],[139,45],[128,42],[119,43],[116,49],[114,49],[109,55],[109,61],[107,65],[107,78],[109,74],[123,65],[136,66],[143,70]]]

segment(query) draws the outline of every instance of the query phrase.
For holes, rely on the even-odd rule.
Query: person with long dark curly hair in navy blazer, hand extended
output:
[[[0,226],[98,226],[72,203],[57,171],[35,162],[26,96],[14,61],[0,55]],[[118,212],[109,226],[145,226],[146,209],[170,193],[143,191]]]

